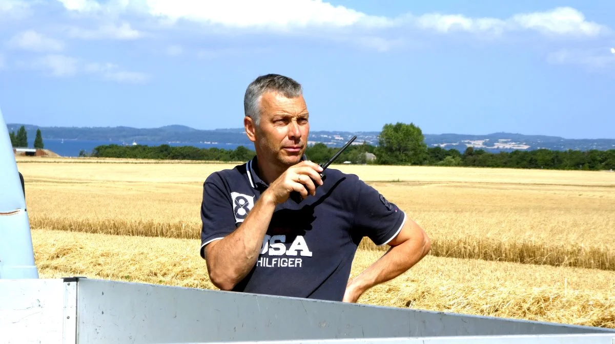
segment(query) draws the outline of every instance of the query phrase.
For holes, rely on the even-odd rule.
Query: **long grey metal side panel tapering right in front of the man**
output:
[[[598,327],[97,279],[80,279],[78,294],[80,343],[615,333]]]

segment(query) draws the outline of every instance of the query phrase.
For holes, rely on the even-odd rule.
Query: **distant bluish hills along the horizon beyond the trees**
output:
[[[9,123],[9,131],[15,131],[22,124]],[[215,130],[199,130],[185,125],[167,125],[160,128],[132,127],[39,127],[24,125],[28,139],[34,140],[36,130],[41,129],[44,139],[81,139],[93,141],[158,141],[168,143],[212,143],[212,144],[244,144],[252,146],[245,136],[244,128],[220,128]],[[310,143],[324,143],[331,147],[341,147],[346,141],[357,135],[355,144],[363,141],[373,146],[378,145],[379,131],[311,131]],[[440,146],[445,149],[455,148],[464,151],[466,147],[485,149],[490,152],[534,150],[546,148],[557,151],[573,149],[601,151],[615,149],[615,139],[565,139],[558,136],[523,135],[519,133],[491,133],[487,135],[468,134],[426,134],[425,143],[428,147]]]

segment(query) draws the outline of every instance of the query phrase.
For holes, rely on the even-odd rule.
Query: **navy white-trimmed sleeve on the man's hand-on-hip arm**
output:
[[[406,214],[360,179],[356,190],[354,228],[378,246],[389,243],[402,230]]]

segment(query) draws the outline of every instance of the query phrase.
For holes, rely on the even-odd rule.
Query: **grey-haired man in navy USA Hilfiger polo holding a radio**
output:
[[[244,98],[244,127],[256,157],[211,174],[201,204],[201,250],[225,291],[357,302],[430,249],[423,230],[354,174],[304,156],[309,113],[300,84],[268,74]],[[296,203],[289,198],[298,192]],[[391,249],[349,279],[363,237]]]

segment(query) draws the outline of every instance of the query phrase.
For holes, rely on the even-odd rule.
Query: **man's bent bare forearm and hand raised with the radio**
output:
[[[248,275],[260,254],[276,205],[285,202],[292,191],[301,193],[303,197],[308,193],[314,195],[312,179],[322,185],[321,171],[322,168],[312,162],[301,162],[288,168],[261,194],[236,230],[205,246],[207,271],[213,285],[231,290]]]

